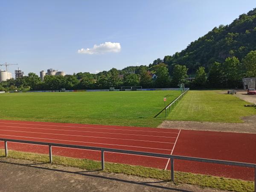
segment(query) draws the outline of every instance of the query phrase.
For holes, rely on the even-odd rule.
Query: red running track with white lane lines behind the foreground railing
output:
[[[256,134],[0,120],[0,138],[117,148],[256,163]],[[0,148],[3,148],[3,142]],[[42,145],[9,143],[16,151],[48,154]],[[52,147],[53,155],[100,160],[100,151]],[[105,152],[105,161],[170,169],[169,159]],[[175,171],[254,180],[252,168],[175,160]]]

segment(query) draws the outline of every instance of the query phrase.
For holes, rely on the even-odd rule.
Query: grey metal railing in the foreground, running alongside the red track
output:
[[[171,163],[171,181],[174,181],[174,160],[175,159],[197,161],[197,162],[204,162],[204,163],[215,163],[215,164],[222,164],[222,165],[229,165],[229,166],[249,167],[249,168],[254,168],[254,192],[256,192],[256,164],[253,164],[253,163],[214,160],[214,159],[205,159],[205,158],[198,158],[198,157],[186,157],[186,156],[169,155],[169,154],[149,153],[149,152],[142,152],[142,151],[130,151],[130,150],[122,150],[122,149],[114,149],[114,148],[101,148],[101,147],[91,147],[91,146],[82,146],[82,145],[66,145],[66,144],[60,144],[60,143],[44,143],[44,142],[26,141],[26,140],[12,140],[12,139],[0,138],[0,141],[4,141],[6,157],[8,156],[7,142],[27,143],[27,144],[34,144],[34,145],[46,145],[49,147],[49,163],[52,163],[52,146],[101,151],[102,170],[104,170],[104,168],[105,168],[104,152],[114,152],[114,153],[122,153],[122,154],[135,154],[135,155],[143,155],[143,156],[149,156],[149,157],[167,158],[167,159],[170,159],[170,163]]]

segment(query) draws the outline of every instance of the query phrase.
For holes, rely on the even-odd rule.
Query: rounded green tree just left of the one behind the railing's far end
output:
[[[170,86],[171,79],[169,75],[168,68],[164,65],[158,67],[157,72],[157,79],[155,81],[155,85],[159,88],[166,88]]]

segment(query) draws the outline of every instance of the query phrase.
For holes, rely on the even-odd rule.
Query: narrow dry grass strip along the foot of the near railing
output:
[[[4,150],[0,149],[0,157],[4,156]],[[48,163],[49,156],[46,154],[34,154],[20,151],[9,150],[8,157],[23,160],[32,160],[36,162]],[[63,166],[79,167],[81,169],[99,170],[101,162],[75,159],[70,157],[53,156],[53,163]],[[122,173],[139,177],[154,178],[164,181],[170,181],[170,171],[154,169],[142,166],[130,166],[118,163],[105,163],[104,172]],[[251,181],[228,179],[223,177],[213,177],[207,175],[198,175],[192,173],[175,172],[176,184],[192,184],[200,187],[209,187],[213,189],[250,192],[254,190],[254,183]]]

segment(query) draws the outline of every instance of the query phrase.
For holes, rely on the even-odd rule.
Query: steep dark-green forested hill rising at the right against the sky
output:
[[[186,65],[190,74],[199,66],[208,72],[213,62],[223,62],[232,56],[241,61],[251,50],[256,50],[256,8],[240,15],[230,25],[213,28],[181,52],[165,56],[163,62],[171,72],[175,64]]]

